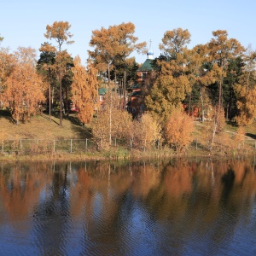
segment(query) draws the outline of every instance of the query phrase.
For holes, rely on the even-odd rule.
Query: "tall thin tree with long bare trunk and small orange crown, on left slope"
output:
[[[73,34],[69,32],[71,25],[67,21],[55,21],[52,26],[46,26],[45,38],[55,39],[58,47],[59,55],[59,83],[60,83],[60,125],[62,126],[62,84],[61,84],[61,50],[63,44],[73,44],[74,42],[68,40],[73,37]]]

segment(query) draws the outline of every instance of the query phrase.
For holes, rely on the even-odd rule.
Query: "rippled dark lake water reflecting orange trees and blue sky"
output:
[[[256,255],[256,160],[0,163],[0,255]]]

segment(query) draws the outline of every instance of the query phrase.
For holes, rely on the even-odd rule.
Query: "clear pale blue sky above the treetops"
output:
[[[93,30],[129,21],[136,26],[137,43],[149,44],[152,40],[154,57],[160,55],[164,33],[177,27],[189,30],[189,48],[206,44],[212,31],[218,29],[227,30],[229,38],[236,38],[245,47],[256,47],[255,0],[2,0],[0,9],[2,47],[11,51],[19,46],[38,50],[47,41],[47,25],[68,21],[75,43],[67,45],[67,51],[73,57],[79,55],[84,64]],[[146,55],[135,56],[138,63],[146,59]]]

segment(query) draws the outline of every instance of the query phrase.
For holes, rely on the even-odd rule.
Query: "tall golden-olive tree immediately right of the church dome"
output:
[[[189,32],[182,29],[166,32],[162,38],[160,49],[165,51],[166,58],[158,62],[160,73],[145,98],[147,109],[160,121],[166,119],[175,108],[180,108],[181,102],[191,91],[184,58],[189,41]]]

